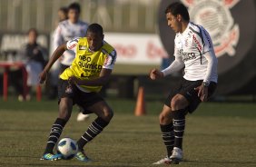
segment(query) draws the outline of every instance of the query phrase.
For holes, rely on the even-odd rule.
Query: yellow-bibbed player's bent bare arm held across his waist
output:
[[[69,82],[76,83],[79,85],[87,85],[87,86],[103,86],[105,83],[108,83],[108,81],[110,80],[111,74],[112,74],[111,69],[103,68],[98,78],[95,78],[92,80],[80,80],[72,76],[69,78]]]

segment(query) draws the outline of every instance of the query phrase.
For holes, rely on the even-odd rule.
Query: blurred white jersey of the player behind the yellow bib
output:
[[[68,19],[60,22],[54,31],[54,50],[61,44],[74,39],[75,37],[84,37],[88,28],[88,24],[78,21],[73,24]],[[74,52],[65,51],[60,59],[61,64],[71,65],[74,60]]]

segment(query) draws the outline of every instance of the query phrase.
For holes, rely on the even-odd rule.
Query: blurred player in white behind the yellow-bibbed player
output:
[[[60,22],[54,31],[54,50],[59,45],[75,37],[85,36],[88,24],[79,20],[80,12],[79,4],[73,3],[68,6],[68,19]],[[75,54],[72,51],[67,50],[64,52],[63,56],[60,58],[60,74],[72,64],[74,56]],[[58,77],[54,77],[58,80]],[[57,85],[55,85],[55,87],[56,86]],[[77,121],[84,121],[88,116],[88,114],[78,113]]]

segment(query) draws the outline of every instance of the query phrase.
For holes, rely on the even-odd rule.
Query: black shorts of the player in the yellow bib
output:
[[[98,93],[84,93],[78,89],[76,85],[60,79],[58,83],[58,103],[60,103],[61,98],[64,97],[72,99],[73,104],[77,104],[82,108],[83,113],[93,113],[93,111],[90,111],[88,108],[94,103],[104,101]]]

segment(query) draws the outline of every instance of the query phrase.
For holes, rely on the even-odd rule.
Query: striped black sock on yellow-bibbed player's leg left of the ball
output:
[[[61,133],[63,132],[65,123],[66,123],[66,121],[61,118],[56,119],[56,121],[54,122],[54,124],[52,126],[44,154],[45,153],[53,153],[54,146],[55,146],[56,142],[58,142],[59,137],[60,137]]]

